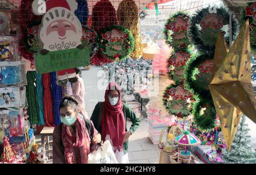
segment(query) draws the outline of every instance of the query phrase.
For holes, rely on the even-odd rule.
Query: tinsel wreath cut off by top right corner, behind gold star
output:
[[[248,3],[245,10],[242,11],[241,25],[249,19],[250,26],[250,44],[251,53],[256,54],[256,2]]]

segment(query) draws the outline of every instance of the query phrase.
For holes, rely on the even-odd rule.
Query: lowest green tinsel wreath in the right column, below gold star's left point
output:
[[[216,110],[212,99],[197,98],[196,103],[193,104],[193,116],[200,130],[212,130],[216,120]]]

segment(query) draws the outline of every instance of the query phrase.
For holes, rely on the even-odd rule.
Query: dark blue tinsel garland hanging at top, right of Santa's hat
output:
[[[80,20],[81,24],[85,26],[89,15],[87,0],[76,0],[76,2],[77,9],[75,11],[75,15]]]

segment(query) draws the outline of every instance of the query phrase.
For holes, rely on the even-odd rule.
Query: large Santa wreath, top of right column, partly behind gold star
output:
[[[216,13],[210,13],[209,9],[210,6],[196,11],[191,18],[188,35],[200,53],[213,55],[218,32],[222,32],[229,41],[229,12],[225,7],[218,7]],[[232,16],[232,39],[236,31],[237,20]]]

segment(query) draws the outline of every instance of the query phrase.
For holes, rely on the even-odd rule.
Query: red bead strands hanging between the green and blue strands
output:
[[[44,121],[47,127],[54,127],[51,82],[49,73],[42,74],[42,83],[44,86]]]

